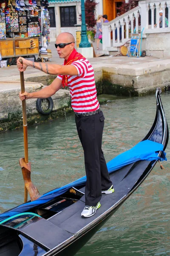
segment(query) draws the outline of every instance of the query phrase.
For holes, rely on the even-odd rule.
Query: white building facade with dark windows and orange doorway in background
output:
[[[108,20],[113,20],[122,0],[96,0],[96,3],[96,17],[107,14]],[[55,41],[61,32],[71,32],[76,38],[76,31],[81,30],[80,14],[81,0],[49,0],[50,40]]]

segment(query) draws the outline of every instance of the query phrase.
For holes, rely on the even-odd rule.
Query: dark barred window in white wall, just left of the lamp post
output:
[[[61,27],[77,24],[76,6],[60,7]]]

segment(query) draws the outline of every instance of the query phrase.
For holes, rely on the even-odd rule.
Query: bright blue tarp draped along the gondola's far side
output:
[[[139,142],[130,150],[127,150],[124,153],[119,154],[117,157],[113,158],[113,160],[108,162],[108,171],[109,173],[114,172],[122,168],[123,166],[126,166],[130,163],[134,163],[139,160],[167,160],[165,157],[166,153],[163,151],[163,148],[164,146],[162,144],[150,140],[144,140],[142,142]],[[158,157],[159,151],[162,151],[161,157]],[[28,212],[29,210],[31,210],[31,208],[37,205],[45,204],[48,201],[52,200],[53,198],[62,195],[72,186],[76,187],[78,185],[85,185],[85,183],[86,176],[78,180],[75,180],[72,183],[69,183],[65,186],[62,186],[61,188],[54,189],[48,193],[45,193],[35,201],[21,204],[20,206],[15,207],[14,209],[9,210],[8,212],[0,214],[0,221],[3,221],[4,219],[21,212]]]

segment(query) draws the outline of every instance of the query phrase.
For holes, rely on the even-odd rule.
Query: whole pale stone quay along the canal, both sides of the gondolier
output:
[[[56,56],[54,56],[56,57]],[[62,64],[54,58],[49,64]],[[101,56],[89,59],[94,67],[97,93],[117,96],[142,96],[155,93],[157,87],[170,87],[170,58],[144,58],[127,56]],[[56,76],[47,75],[28,67],[24,72],[25,88],[28,92],[48,86]],[[20,73],[17,66],[0,68],[0,131],[22,126],[22,102],[19,99]],[[26,101],[28,125],[49,121],[72,111],[69,90],[60,89],[52,96],[54,108],[51,114],[37,111],[37,99]]]

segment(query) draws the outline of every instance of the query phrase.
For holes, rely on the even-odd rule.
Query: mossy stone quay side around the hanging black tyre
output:
[[[35,78],[34,78],[35,80]],[[0,82],[1,85],[2,82]],[[5,82],[3,82],[4,85]],[[0,86],[0,131],[7,131],[21,127],[23,125],[22,102],[19,98],[20,82],[8,81],[5,89]],[[27,92],[40,90],[43,84],[34,82],[25,82]],[[41,122],[55,119],[58,116],[64,116],[71,112],[71,100],[68,90],[60,89],[52,96],[54,107],[50,115],[41,115],[36,108],[37,99],[26,101],[26,112],[28,125],[34,125]]]

